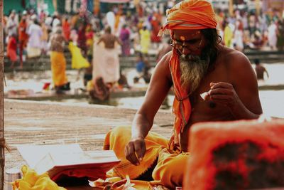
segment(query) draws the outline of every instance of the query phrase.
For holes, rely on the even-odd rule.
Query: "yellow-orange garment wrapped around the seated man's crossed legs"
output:
[[[174,152],[173,149],[169,149],[172,147],[172,141],[168,141],[155,132],[149,132],[145,139],[145,157],[143,157],[143,161],[139,166],[135,166],[124,155],[124,147],[130,138],[130,126],[115,127],[107,133],[104,140],[104,149],[114,150],[116,157],[121,159],[116,167],[108,171],[107,177],[120,176],[125,179],[126,175],[128,175],[130,179],[136,179],[151,168],[158,158],[158,164],[152,174],[154,181],[150,181],[150,184],[162,184],[170,189],[175,189],[175,186],[182,186],[185,164],[189,157],[187,153]]]

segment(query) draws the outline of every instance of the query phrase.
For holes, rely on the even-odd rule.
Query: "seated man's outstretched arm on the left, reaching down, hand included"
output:
[[[126,159],[138,165],[146,153],[145,137],[151,130],[155,114],[158,112],[165,96],[172,85],[168,61],[170,53],[158,63],[148,86],[146,96],[132,124],[132,134],[129,144],[126,145]]]

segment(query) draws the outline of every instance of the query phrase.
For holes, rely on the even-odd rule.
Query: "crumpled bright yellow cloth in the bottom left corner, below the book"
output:
[[[21,171],[23,178],[17,179],[12,183],[13,190],[66,190],[55,184],[47,173],[38,175],[26,165],[23,165]]]

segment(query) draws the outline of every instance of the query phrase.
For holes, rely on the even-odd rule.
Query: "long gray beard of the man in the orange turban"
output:
[[[209,59],[203,60],[200,56],[181,55],[180,56],[180,79],[182,88],[193,93],[200,85],[200,81],[207,73]]]

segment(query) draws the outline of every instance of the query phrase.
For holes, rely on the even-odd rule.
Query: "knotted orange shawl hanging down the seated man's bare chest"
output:
[[[178,135],[182,132],[190,119],[191,105],[187,91],[182,88],[180,82],[180,61],[178,53],[173,50],[173,56],[170,58],[170,73],[173,78],[173,88],[175,90],[175,100],[173,101],[173,113],[175,114],[175,144],[179,142]]]

